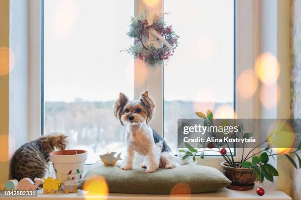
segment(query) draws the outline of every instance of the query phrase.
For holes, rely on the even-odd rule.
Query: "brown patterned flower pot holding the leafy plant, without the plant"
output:
[[[239,163],[239,162],[235,162]],[[222,162],[223,173],[232,183],[227,186],[233,190],[252,190],[256,179],[253,169],[229,167],[227,162]]]

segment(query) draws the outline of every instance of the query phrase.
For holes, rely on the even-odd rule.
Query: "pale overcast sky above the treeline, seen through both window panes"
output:
[[[164,66],[165,100],[233,101],[233,0],[164,0],[180,44]],[[45,100],[133,98],[124,52],[134,0],[45,0]]]

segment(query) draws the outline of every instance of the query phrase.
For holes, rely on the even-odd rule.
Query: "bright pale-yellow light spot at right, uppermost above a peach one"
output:
[[[271,85],[275,83],[280,73],[277,58],[271,53],[261,54],[255,61],[255,72],[265,84]]]

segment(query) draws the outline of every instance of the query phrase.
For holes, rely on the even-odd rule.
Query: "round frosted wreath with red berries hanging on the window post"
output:
[[[168,60],[173,55],[174,50],[178,47],[179,36],[173,31],[172,25],[166,25],[163,19],[164,15],[154,15],[153,23],[149,25],[146,14],[145,12],[140,18],[131,18],[130,30],[126,35],[134,39],[134,44],[121,51],[126,51],[136,58],[155,65],[162,63],[163,60]],[[143,43],[143,38],[149,38],[150,33],[163,43],[161,48],[155,48],[152,43],[148,45]]]

